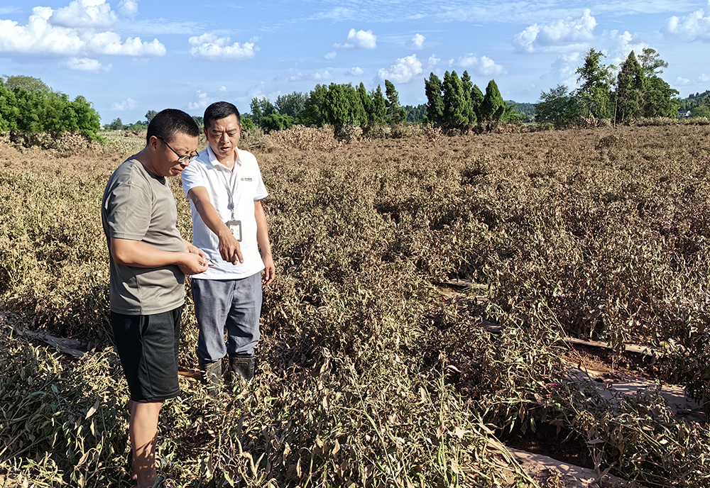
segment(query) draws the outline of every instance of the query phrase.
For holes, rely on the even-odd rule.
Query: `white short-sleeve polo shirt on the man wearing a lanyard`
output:
[[[182,189],[185,191],[185,196],[190,189],[204,187],[209,194],[209,201],[223,222],[241,223],[239,245],[244,262],[233,265],[231,262],[224,261],[219,255],[217,234],[205,225],[195,209],[195,204],[187,196],[192,211],[192,243],[217,262],[217,266],[209,267],[204,273],[193,276],[193,279],[241,279],[264,269],[256,242],[254,201],[266,198],[268,192],[261,179],[261,170],[256,157],[249,151],[241,149],[237,149],[237,155],[239,159],[235,162],[232,171],[222,165],[214,156],[212,148],[207,146],[207,149],[200,153],[200,157],[182,171]],[[231,210],[232,203],[234,214]]]

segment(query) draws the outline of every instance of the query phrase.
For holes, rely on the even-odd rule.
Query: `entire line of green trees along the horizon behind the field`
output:
[[[631,51],[621,66],[605,65],[601,51],[587,53],[577,68],[579,88],[558,85],[543,91],[536,104],[505,101],[491,79],[485,93],[471,82],[468,72],[445,72],[439,79],[433,72],[425,79],[426,104],[401,106],[393,83],[366,90],[363,83],[317,84],[310,93],[294,91],[279,95],[272,103],[266,97],[251,100],[251,113],[242,123],[246,130],[259,127],[266,133],[294,124],[333,126],[336,136],[350,127],[364,135],[386,125],[426,123],[445,131],[486,131],[501,122],[545,122],[555,126],[577,123],[584,118],[610,119],[619,123],[638,117],[676,117],[679,110],[691,116],[710,117],[710,90],[676,98],[678,91],[659,75],[668,63],[653,49],[636,57]],[[104,130],[143,131],[157,112],[149,110],[146,120],[124,124],[114,118]],[[202,126],[201,116],[193,116]],[[77,96],[74,100],[54,91],[42,80],[27,76],[0,77],[0,133],[7,131],[82,133],[97,138],[102,128],[92,104]],[[382,133],[382,131],[380,131]]]

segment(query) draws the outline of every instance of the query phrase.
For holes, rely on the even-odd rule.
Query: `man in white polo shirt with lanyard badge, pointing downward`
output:
[[[268,193],[256,157],[237,148],[240,133],[236,106],[226,101],[208,106],[204,135],[209,145],[182,172],[182,189],[192,209],[192,242],[216,263],[192,277],[200,328],[197,358],[203,381],[212,387],[219,387],[227,354],[229,370],[253,377],[261,290],[275,277],[261,206]]]

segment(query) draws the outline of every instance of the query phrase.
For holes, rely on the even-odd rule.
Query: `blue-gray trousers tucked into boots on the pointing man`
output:
[[[219,361],[227,353],[253,355],[261,337],[261,272],[242,279],[192,279],[192,298],[200,364]]]

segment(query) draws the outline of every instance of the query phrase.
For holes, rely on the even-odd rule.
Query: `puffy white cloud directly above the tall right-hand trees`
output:
[[[596,19],[586,9],[580,18],[562,18],[543,25],[534,23],[513,37],[516,52],[584,50],[594,40]]]

